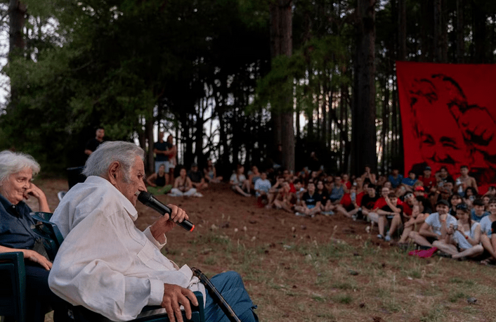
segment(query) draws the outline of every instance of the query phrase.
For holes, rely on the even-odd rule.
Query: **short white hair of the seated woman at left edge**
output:
[[[4,150],[0,152],[0,183],[8,179],[11,174],[21,172],[24,169],[31,169],[33,176],[39,172],[39,163],[34,157],[22,152],[12,152]]]

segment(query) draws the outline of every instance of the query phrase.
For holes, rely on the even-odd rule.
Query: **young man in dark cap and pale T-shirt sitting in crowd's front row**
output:
[[[436,212],[430,214],[420,227],[419,232],[412,231],[410,238],[418,245],[437,247],[439,240],[445,240],[447,235],[452,235],[457,228],[457,219],[448,214],[450,204],[441,199],[436,202]]]

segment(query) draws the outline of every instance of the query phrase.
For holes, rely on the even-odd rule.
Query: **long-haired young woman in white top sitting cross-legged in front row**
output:
[[[454,259],[481,255],[484,252],[481,245],[481,224],[471,220],[469,207],[464,203],[457,205],[457,217],[458,226],[455,232],[447,235],[445,240],[439,240],[436,247]]]

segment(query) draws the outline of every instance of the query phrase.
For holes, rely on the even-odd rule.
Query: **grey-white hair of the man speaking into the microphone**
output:
[[[143,160],[145,152],[134,143],[123,141],[111,141],[100,144],[95,152],[91,153],[83,174],[85,176],[101,176],[105,178],[108,168],[113,162],[119,162],[124,173],[124,181],[131,181],[131,167],[136,157]]]

